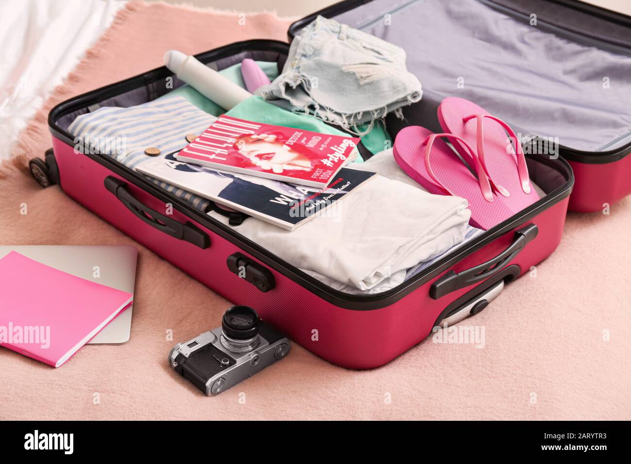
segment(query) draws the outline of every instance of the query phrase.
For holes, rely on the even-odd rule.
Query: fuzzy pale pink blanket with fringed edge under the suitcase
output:
[[[42,189],[25,161],[49,148],[45,116],[57,102],[160,66],[167,49],[285,40],[287,27],[269,14],[240,26],[238,16],[131,4],[21,134],[1,168],[0,243],[134,244],[138,282],[125,345],[86,346],[59,369],[0,349],[0,419],[631,419],[630,198],[610,215],[570,213],[557,251],[461,323],[484,330],[481,348],[430,337],[355,372],[294,345],[214,398],[170,369],[170,348],[219,326],[230,302],[58,186]]]

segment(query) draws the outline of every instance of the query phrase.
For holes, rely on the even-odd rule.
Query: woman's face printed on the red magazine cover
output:
[[[237,147],[242,155],[263,169],[270,169],[267,166],[271,165],[287,169],[286,165],[292,162],[309,163],[309,158],[276,139],[275,135],[254,134],[237,140]]]

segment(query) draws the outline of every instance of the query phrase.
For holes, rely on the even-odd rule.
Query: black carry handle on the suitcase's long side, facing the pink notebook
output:
[[[151,227],[155,227],[155,229],[160,230],[160,232],[171,235],[171,237],[175,237],[176,239],[191,242],[201,249],[206,249],[210,246],[210,237],[208,237],[208,234],[205,234],[192,222],[182,224],[173,218],[152,210],[149,206],[143,205],[143,203],[129,193],[125,182],[112,175],[108,175],[105,177],[103,184],[116,198],[121,200],[121,203],[125,205],[129,211],[148,223]]]

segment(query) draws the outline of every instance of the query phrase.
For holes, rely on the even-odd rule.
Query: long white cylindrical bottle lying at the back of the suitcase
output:
[[[163,59],[165,66],[178,78],[223,109],[232,109],[246,98],[252,97],[250,92],[217,71],[208,68],[194,56],[187,56],[177,50],[169,50],[164,54]]]

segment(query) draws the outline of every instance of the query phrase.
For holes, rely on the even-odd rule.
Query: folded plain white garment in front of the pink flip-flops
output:
[[[467,205],[464,198],[375,175],[339,201],[335,215],[291,232],[256,218],[233,229],[325,283],[369,290],[400,273],[403,282],[408,268],[463,241]],[[214,211],[209,215],[228,222]]]

